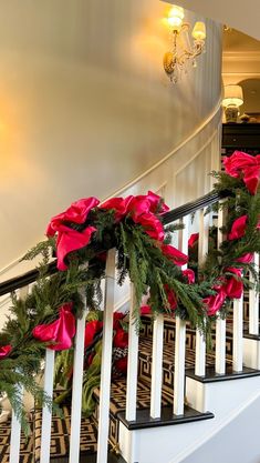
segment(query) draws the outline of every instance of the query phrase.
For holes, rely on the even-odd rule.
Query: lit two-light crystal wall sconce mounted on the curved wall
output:
[[[195,23],[191,44],[190,24],[184,22],[184,9],[174,4],[167,18],[170,28],[171,50],[164,56],[164,69],[174,83],[178,82],[183,71],[187,73],[189,63],[196,68],[196,58],[205,50],[205,23],[201,21]]]

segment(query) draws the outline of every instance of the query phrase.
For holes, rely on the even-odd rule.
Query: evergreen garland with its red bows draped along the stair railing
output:
[[[94,314],[90,316],[102,323],[101,281],[110,249],[117,250],[118,284],[128,276],[134,285],[137,328],[142,298],[146,294],[154,316],[179,315],[207,334],[211,320],[218,313],[225,316],[243,286],[252,284],[246,273],[248,270],[256,273],[253,253],[260,250],[260,155],[235,152],[223,163],[225,172],[214,172],[215,191],[220,195],[225,192],[227,199],[210,210],[228,211],[222,229],[225,239],[218,249],[216,230],[211,229],[209,253],[200,266],[196,252],[198,235],[190,236],[189,258],[174,248],[171,233],[179,227],[164,229],[162,218],[168,208],[150,191],[146,195],[114,198],[102,204],[95,198],[82,199],[51,220],[48,240],[24,256],[42,255],[40,276],[24,300],[12,295],[11,316],[0,333],[0,391],[8,394],[20,419],[24,417],[24,411],[19,384],[38,401],[48,402],[37,382],[44,349],[65,352],[58,356],[58,375],[66,370],[62,358],[66,366],[71,364],[75,319],[83,310],[82,288],[86,305]],[[53,253],[59,272],[49,275],[46,269]],[[189,269],[181,271],[186,263]],[[85,362],[89,381],[91,368],[95,366],[93,359],[100,355],[101,344],[97,344],[92,345],[95,355],[91,361],[87,356]],[[98,371],[95,374],[98,381]],[[91,387],[87,381],[85,387]]]

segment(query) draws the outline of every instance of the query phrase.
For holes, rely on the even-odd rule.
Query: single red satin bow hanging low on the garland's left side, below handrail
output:
[[[71,313],[72,304],[67,303],[60,308],[59,319],[50,324],[39,324],[33,329],[33,336],[41,342],[52,343],[49,349],[63,351],[72,346],[75,335],[75,318]],[[53,344],[54,343],[54,344]]]

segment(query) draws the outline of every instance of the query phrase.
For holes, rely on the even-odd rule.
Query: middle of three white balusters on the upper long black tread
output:
[[[220,231],[225,224],[225,213],[223,209],[220,209],[218,213],[218,249],[225,238]],[[226,320],[220,318],[216,321],[215,371],[218,374],[225,374],[226,372]]]

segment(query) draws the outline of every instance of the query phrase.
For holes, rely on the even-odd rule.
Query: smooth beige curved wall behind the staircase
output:
[[[0,0],[0,269],[73,200],[101,199],[169,153],[220,94],[220,28],[170,85],[158,0]],[[194,21],[196,18],[188,14]]]

